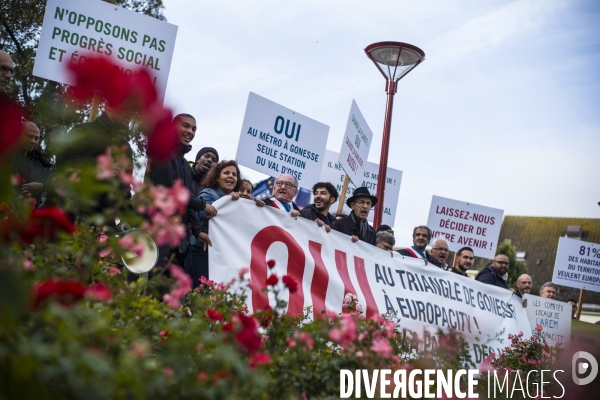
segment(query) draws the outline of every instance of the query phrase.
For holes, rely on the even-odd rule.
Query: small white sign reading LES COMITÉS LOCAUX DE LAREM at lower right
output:
[[[563,301],[546,299],[526,293],[523,299],[527,300],[527,318],[531,334],[535,327],[542,326],[542,337],[550,346],[562,343],[561,347],[568,349],[571,344],[571,315],[573,308]]]

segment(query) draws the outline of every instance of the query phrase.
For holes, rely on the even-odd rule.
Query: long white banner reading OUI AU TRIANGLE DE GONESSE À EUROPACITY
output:
[[[283,296],[287,314],[312,306],[313,318],[322,310],[342,311],[347,293],[357,295],[368,318],[394,313],[404,335],[421,337],[422,348],[435,348],[438,330],[462,333],[477,364],[508,344],[508,334],[526,332],[529,322],[521,299],[509,290],[485,285],[405,258],[364,242],[352,243],[336,231],[326,233],[314,221],[292,218],[280,210],[257,208],[254,202],[225,196],[213,204],[219,214],[210,221],[209,275],[229,282],[248,268],[251,280],[247,305],[264,309],[262,291],[269,268],[298,282],[298,291]],[[232,229],[235,227],[235,229]],[[235,251],[232,251],[235,249]],[[284,291],[282,293],[286,293]],[[325,314],[326,315],[326,314]]]

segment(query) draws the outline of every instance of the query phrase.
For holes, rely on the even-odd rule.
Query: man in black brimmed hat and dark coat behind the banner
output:
[[[377,204],[377,197],[371,196],[366,187],[359,187],[354,190],[352,197],[346,200],[346,204],[352,212],[349,216],[335,221],[331,229],[352,236],[352,242],[362,240],[375,246],[375,229],[369,225],[367,217],[371,208]]]

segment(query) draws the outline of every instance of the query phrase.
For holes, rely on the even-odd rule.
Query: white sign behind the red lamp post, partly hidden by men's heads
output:
[[[331,182],[333,186],[340,192],[342,191],[342,186],[344,184],[344,178],[346,174],[342,169],[337,160],[339,159],[339,155],[335,151],[327,150],[325,152],[325,158],[323,159],[323,170],[321,172],[322,182]],[[365,164],[365,170],[363,175],[359,177],[356,181],[350,182],[348,189],[346,190],[346,198],[352,196],[352,192],[357,187],[364,186],[369,189],[372,195],[375,195],[377,191],[377,176],[379,174],[379,164],[375,164],[372,162],[368,162]],[[398,209],[398,198],[400,196],[400,183],[402,182],[402,171],[394,168],[387,169],[387,177],[385,184],[385,199],[383,200],[383,220],[382,223],[394,226],[394,221],[396,220],[396,211]],[[335,210],[338,207],[338,202],[336,201],[331,205],[331,210]],[[350,207],[344,204],[343,212],[349,214]],[[373,222],[373,216],[375,213],[373,210],[369,213],[369,222]]]

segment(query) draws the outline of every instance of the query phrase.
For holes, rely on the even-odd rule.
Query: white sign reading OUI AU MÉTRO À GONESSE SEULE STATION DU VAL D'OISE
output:
[[[255,171],[317,183],[329,127],[250,92],[235,159]]]

